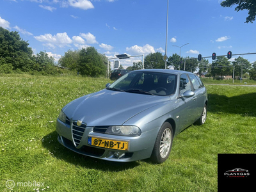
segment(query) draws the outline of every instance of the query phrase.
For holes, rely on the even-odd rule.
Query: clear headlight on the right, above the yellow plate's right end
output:
[[[122,136],[140,136],[141,130],[136,126],[109,126],[105,133]]]

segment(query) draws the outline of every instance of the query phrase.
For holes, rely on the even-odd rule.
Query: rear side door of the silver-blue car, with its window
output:
[[[197,76],[193,74],[189,74],[188,76],[193,84],[193,90],[196,97],[196,118],[199,118],[204,108],[206,90],[205,87],[200,83],[200,79],[198,80]]]

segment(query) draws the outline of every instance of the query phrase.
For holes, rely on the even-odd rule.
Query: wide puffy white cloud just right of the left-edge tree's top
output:
[[[69,38],[66,32],[57,33],[56,35],[53,35],[53,36],[48,33],[45,35],[34,36],[34,38],[40,42],[45,42],[47,43],[45,45],[49,45],[52,47],[54,47],[54,45],[58,47],[65,47],[65,46],[69,46],[73,42],[71,38]]]

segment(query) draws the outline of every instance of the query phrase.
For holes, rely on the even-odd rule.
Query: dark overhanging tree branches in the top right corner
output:
[[[246,23],[253,22],[256,15],[256,3],[255,0],[226,0],[221,2],[221,6],[230,7],[237,5],[235,11],[248,10],[248,17],[246,17]]]

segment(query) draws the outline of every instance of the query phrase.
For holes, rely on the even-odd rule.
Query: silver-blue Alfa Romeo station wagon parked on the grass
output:
[[[207,105],[207,90],[195,74],[135,70],[68,103],[57,119],[58,141],[98,159],[163,163],[179,132],[205,123]]]

